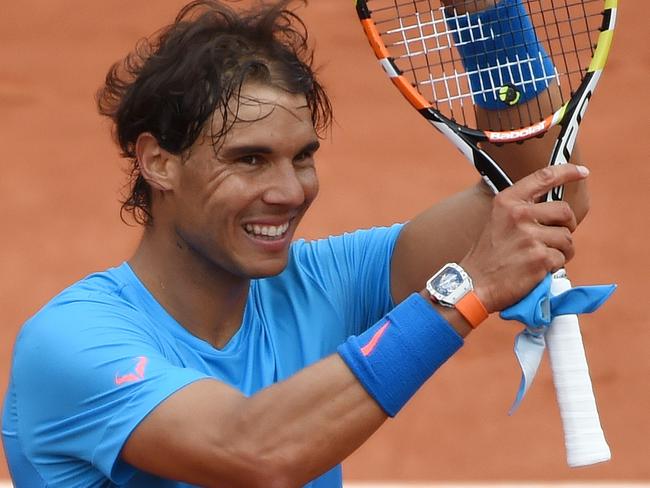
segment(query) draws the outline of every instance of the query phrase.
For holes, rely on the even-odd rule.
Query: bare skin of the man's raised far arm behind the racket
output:
[[[494,5],[494,0],[445,0],[447,5],[455,4],[459,10],[475,11]],[[498,112],[505,120],[518,118],[519,113],[552,113],[552,107],[559,106],[559,91],[551,86],[550,97],[540,96],[523,108],[510,108]],[[538,105],[539,103],[539,105]],[[484,129],[496,129],[497,112],[477,108],[478,125]],[[541,139],[532,139],[524,144],[495,146],[486,144],[485,150],[499,163],[505,172],[518,181],[539,168],[548,165],[553,144],[559,128],[553,128]],[[580,162],[578,148],[573,161]],[[448,163],[455,164],[455,162]],[[565,189],[565,201],[572,207],[577,221],[581,222],[589,209],[589,195],[584,180],[571,183]],[[469,252],[482,232],[488,215],[493,208],[493,194],[480,182],[475,186],[439,202],[411,220],[400,236],[392,262],[391,287],[393,298],[399,302],[414,290],[419,289],[431,270],[447,262],[459,262]]]

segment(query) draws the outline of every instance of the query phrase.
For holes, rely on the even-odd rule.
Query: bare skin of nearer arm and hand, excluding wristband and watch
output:
[[[573,212],[563,202],[535,200],[584,177],[573,165],[547,168],[495,198],[489,225],[463,261],[488,311],[514,303],[573,255]],[[460,335],[470,331],[455,310],[438,310]],[[122,458],[202,486],[299,487],[345,459],[385,419],[334,355],[250,398],[216,380],[191,384],[135,429]]]

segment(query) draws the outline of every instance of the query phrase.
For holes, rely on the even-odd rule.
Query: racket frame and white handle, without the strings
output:
[[[598,35],[591,63],[587,68],[584,79],[570,100],[552,115],[541,121],[527,127],[506,131],[488,131],[469,128],[456,123],[438,111],[402,74],[394,59],[390,56],[390,52],[384,46],[381,40],[381,34],[372,20],[372,14],[366,0],[356,0],[356,10],[375,56],[393,84],[408,102],[438,131],[443,133],[473,164],[492,191],[498,193],[511,186],[513,182],[496,161],[481,147],[482,143],[501,144],[520,142],[533,137],[541,137],[549,129],[559,125],[560,132],[549,159],[549,166],[569,162],[575,147],[578,128],[584,118],[587,106],[607,62],[616,24],[618,0],[604,0],[601,32]],[[554,188],[548,193],[547,201],[562,200],[563,195],[563,187]],[[563,282],[565,286],[570,287],[570,282],[568,282],[563,269],[554,274],[554,279],[558,283]],[[558,406],[564,427],[567,463],[571,467],[578,467],[607,461],[611,458],[611,453],[600,425],[578,318],[576,315],[569,315],[558,317],[558,319],[554,320],[550,325],[548,347],[553,379],[556,385],[556,391],[558,392]],[[566,391],[566,389],[564,392],[560,391],[561,385],[559,383],[562,381],[561,373],[555,371],[553,368],[554,362],[560,363],[560,360],[556,359],[559,358],[559,352],[553,350],[555,348],[559,349],[560,344],[557,342],[560,339],[555,338],[559,334],[553,332],[554,324],[559,328],[564,328],[563,330],[566,330],[573,336],[571,339],[573,342],[569,346],[576,355],[580,356],[575,365],[579,370],[578,376],[580,378],[577,380],[577,384],[581,390],[579,392]],[[589,411],[587,421],[585,422],[584,419],[572,419],[571,409],[581,403],[584,404],[585,400],[587,404],[585,409]],[[579,426],[576,425],[578,421],[581,424]]]

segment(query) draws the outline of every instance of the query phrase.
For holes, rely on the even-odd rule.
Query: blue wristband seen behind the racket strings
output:
[[[556,77],[522,0],[501,0],[487,10],[449,16],[447,26],[469,75],[474,102],[483,108],[525,103]]]

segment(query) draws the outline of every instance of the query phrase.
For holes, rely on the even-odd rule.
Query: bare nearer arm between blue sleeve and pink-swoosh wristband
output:
[[[299,487],[358,448],[386,419],[339,356],[246,398],[213,380],[158,406],[125,461],[201,486]]]

